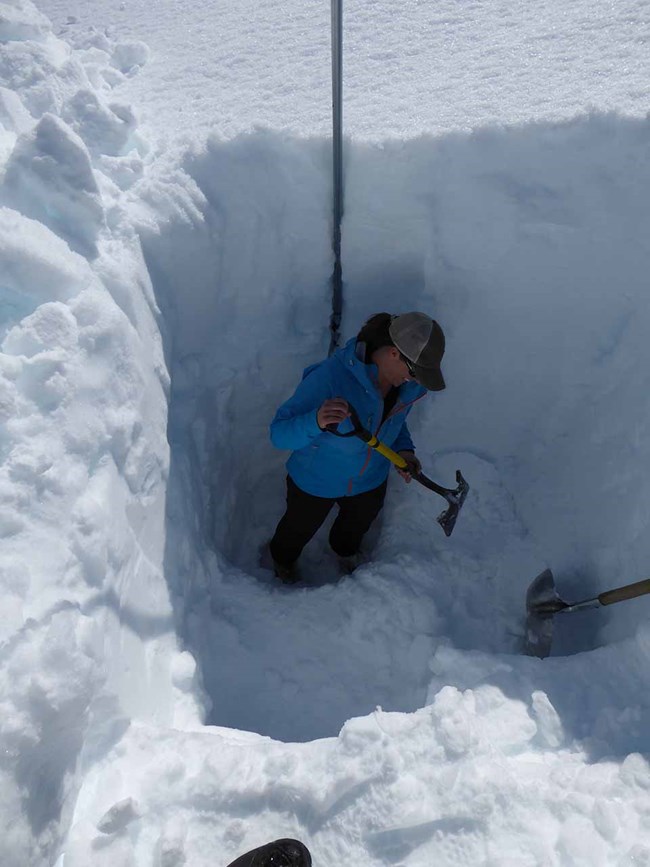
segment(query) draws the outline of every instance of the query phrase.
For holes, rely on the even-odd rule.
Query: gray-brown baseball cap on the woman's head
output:
[[[413,365],[414,376],[429,391],[442,391],[445,380],[440,362],[445,354],[445,335],[426,313],[393,316],[388,333],[396,348]]]

